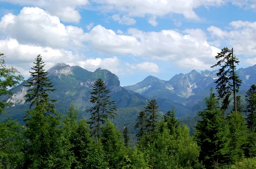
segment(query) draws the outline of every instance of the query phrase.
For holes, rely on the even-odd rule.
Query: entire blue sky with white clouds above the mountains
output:
[[[121,85],[212,70],[221,48],[256,64],[256,0],[0,0],[0,52],[28,78],[41,54]]]

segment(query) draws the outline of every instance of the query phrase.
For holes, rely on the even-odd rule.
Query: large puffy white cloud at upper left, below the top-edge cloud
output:
[[[24,7],[20,14],[6,14],[0,21],[0,33],[23,44],[52,48],[84,49],[83,29],[65,26],[59,18],[43,9]]]

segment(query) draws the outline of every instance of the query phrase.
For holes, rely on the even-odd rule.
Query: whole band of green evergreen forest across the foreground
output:
[[[218,68],[218,80],[204,99],[206,108],[198,112],[192,135],[176,118],[175,106],[162,112],[151,99],[134,119],[135,144],[128,127],[113,124],[118,107],[104,80],[97,79],[89,91],[92,107],[85,113],[90,118],[80,118],[74,102],[66,113],[56,110],[57,100],[49,97],[56,88],[46,76],[41,55],[28,81],[6,66],[3,56],[0,53],[0,96],[11,96],[9,89],[24,82],[29,109],[23,123],[1,119],[0,169],[256,168],[256,85],[245,98],[237,95],[242,81],[233,48],[215,56],[212,68]],[[0,114],[10,106],[1,99]]]

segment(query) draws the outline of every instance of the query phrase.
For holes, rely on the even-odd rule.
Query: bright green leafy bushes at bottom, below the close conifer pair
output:
[[[189,136],[186,126],[178,127],[177,137],[170,135],[165,122],[161,122],[151,141],[144,135],[138,149],[150,168],[154,169],[186,169],[199,167],[199,147]]]

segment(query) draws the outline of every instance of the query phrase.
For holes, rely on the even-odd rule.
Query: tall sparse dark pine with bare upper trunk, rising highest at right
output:
[[[234,111],[237,113],[236,93],[239,92],[239,87],[242,82],[236,73],[235,64],[239,64],[239,59],[234,56],[233,48],[232,50],[223,48],[221,53],[218,53],[218,55],[215,56],[215,59],[221,59],[215,65],[211,66],[211,68],[221,66],[219,72],[216,74],[219,79],[215,82],[217,84],[216,89],[218,92],[218,99],[222,99],[221,109],[223,112],[227,110],[228,105],[233,99]],[[223,62],[224,64],[222,64]],[[233,97],[230,98],[232,94]]]

